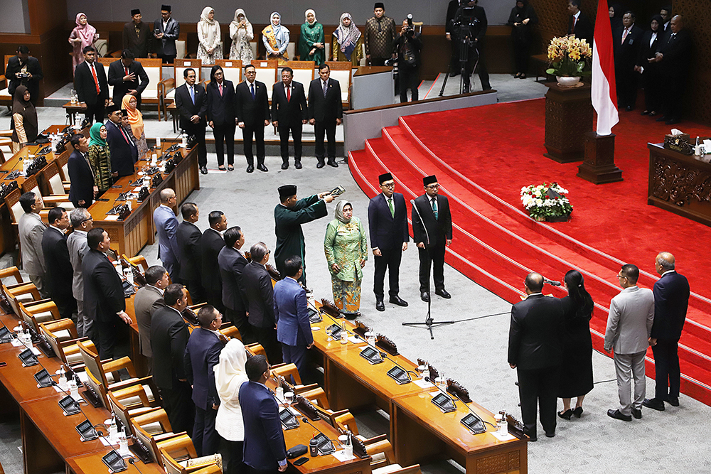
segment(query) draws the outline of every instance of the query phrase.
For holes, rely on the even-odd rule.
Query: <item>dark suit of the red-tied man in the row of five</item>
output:
[[[277,82],[272,87],[272,122],[278,122],[279,146],[282,151],[282,161],[289,163],[289,131],[294,139],[294,161],[301,161],[301,128],[302,121],[309,119],[306,108],[304,85],[292,80],[291,98],[287,100],[284,82]]]

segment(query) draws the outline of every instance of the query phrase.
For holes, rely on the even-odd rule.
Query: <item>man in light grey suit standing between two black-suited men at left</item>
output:
[[[72,279],[72,294],[77,301],[77,333],[80,338],[90,338],[93,340],[92,325],[94,321],[84,312],[84,271],[82,270],[82,260],[89,252],[87,244],[87,232],[94,228],[94,220],[85,208],[76,208],[69,215],[72,221],[72,232],[67,237],[67,248],[69,259],[72,262],[74,276]]]

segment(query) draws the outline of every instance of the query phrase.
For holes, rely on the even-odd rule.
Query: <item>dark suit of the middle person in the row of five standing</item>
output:
[[[264,121],[269,120],[269,97],[267,86],[264,82],[255,80],[255,97],[247,81],[237,84],[235,89],[235,116],[237,122],[244,122],[242,139],[247,164],[254,166],[255,158],[252,155],[252,137],[257,141],[257,166],[264,164]]]

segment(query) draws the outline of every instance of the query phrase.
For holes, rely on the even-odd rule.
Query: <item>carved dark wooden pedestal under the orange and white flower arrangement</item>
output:
[[[589,84],[560,87],[547,82],[545,94],[545,149],[543,156],[558,163],[584,158],[584,134],[592,130]]]

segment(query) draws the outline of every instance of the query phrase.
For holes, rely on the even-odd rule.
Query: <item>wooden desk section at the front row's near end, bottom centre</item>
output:
[[[420,392],[393,400],[395,411],[390,424],[394,430],[390,436],[397,463],[412,465],[444,456],[463,465],[466,474],[528,472],[526,441],[498,441],[489,432],[471,434],[459,422],[469,410],[457,401],[456,411],[442,413],[431,402],[437,393]],[[481,419],[494,423],[489,411],[473,402],[469,406]]]

